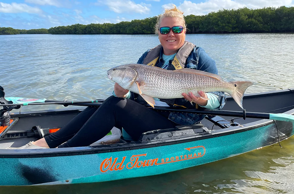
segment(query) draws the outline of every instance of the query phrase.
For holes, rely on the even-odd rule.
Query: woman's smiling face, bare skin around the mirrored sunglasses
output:
[[[161,20],[159,27],[168,26],[182,26],[182,22],[178,18],[166,17]],[[183,26],[184,27],[184,26]],[[168,34],[160,34],[158,30],[158,38],[163,46],[163,54],[172,55],[178,51],[178,49],[183,46],[186,37],[186,28],[183,29],[181,34],[175,34],[171,30]]]

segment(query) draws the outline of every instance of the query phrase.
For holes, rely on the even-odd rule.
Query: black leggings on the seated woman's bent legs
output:
[[[45,136],[45,140],[50,148],[88,146],[106,136],[114,126],[138,140],[143,132],[175,127],[177,124],[168,120],[168,114],[130,99],[110,96],[99,108],[87,107],[59,131]]]

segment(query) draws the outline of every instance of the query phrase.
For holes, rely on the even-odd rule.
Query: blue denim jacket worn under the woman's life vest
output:
[[[148,49],[143,55],[139,58],[138,64],[142,64],[144,58],[146,57],[147,53],[151,49]],[[162,67],[164,64],[163,58],[163,48],[160,51],[159,61],[156,64],[157,67]],[[171,66],[173,60],[169,61],[169,66]],[[196,46],[194,47],[193,51],[188,56],[185,68],[197,69],[201,71],[206,71],[209,73],[218,74],[218,69],[216,68],[216,62],[208,56],[208,54],[204,51],[203,48]],[[226,102],[226,96],[224,92],[210,92],[218,96],[218,101],[220,102],[220,106],[215,110],[220,110],[223,108]],[[133,95],[131,95],[133,96]],[[202,107],[198,106],[199,109]],[[179,125],[191,125],[202,121],[206,115],[199,115],[193,113],[170,113],[168,119],[179,124]]]

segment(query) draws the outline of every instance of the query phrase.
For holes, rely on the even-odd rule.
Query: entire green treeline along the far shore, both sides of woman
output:
[[[73,24],[50,29],[0,28],[0,34],[154,34],[157,16],[117,24]],[[294,7],[222,9],[185,16],[187,33],[294,32]]]

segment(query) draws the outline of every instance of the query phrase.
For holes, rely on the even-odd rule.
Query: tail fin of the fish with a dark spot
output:
[[[253,85],[253,82],[251,81],[232,81],[230,82],[234,85],[234,89],[230,94],[232,98],[235,100],[235,102],[242,108],[243,108],[243,96],[245,93],[245,90]]]

